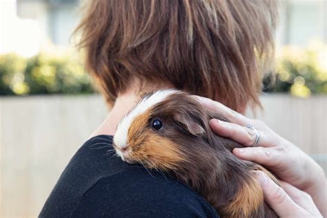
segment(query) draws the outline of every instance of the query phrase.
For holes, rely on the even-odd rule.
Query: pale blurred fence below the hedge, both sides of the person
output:
[[[327,97],[261,97],[261,117],[327,170]],[[0,217],[36,217],[63,168],[106,116],[98,95],[0,98]]]

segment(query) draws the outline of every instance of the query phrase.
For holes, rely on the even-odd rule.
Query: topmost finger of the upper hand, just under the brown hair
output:
[[[224,106],[224,104],[219,103],[218,101],[213,101],[205,97],[195,97],[203,106],[205,106],[209,110],[212,110],[213,112],[217,112],[220,115],[226,117],[226,119],[228,119],[228,121],[230,121],[231,123],[237,123],[241,126],[246,126],[248,123],[251,123],[248,117],[245,117],[244,115],[241,115],[235,110]]]

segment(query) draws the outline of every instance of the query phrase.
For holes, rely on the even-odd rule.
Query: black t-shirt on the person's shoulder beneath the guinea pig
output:
[[[63,171],[40,217],[219,217],[168,175],[115,156],[112,137],[86,141]]]

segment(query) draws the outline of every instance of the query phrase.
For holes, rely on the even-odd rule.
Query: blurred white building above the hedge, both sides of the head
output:
[[[79,21],[80,1],[1,0],[0,54],[31,56],[47,43],[70,45],[70,35]],[[326,14],[326,0],[281,1],[277,45],[304,47],[312,39],[327,43]]]

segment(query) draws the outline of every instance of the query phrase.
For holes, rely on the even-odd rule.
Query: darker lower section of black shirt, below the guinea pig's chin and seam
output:
[[[218,217],[197,193],[159,172],[133,167],[99,179],[73,217]]]

